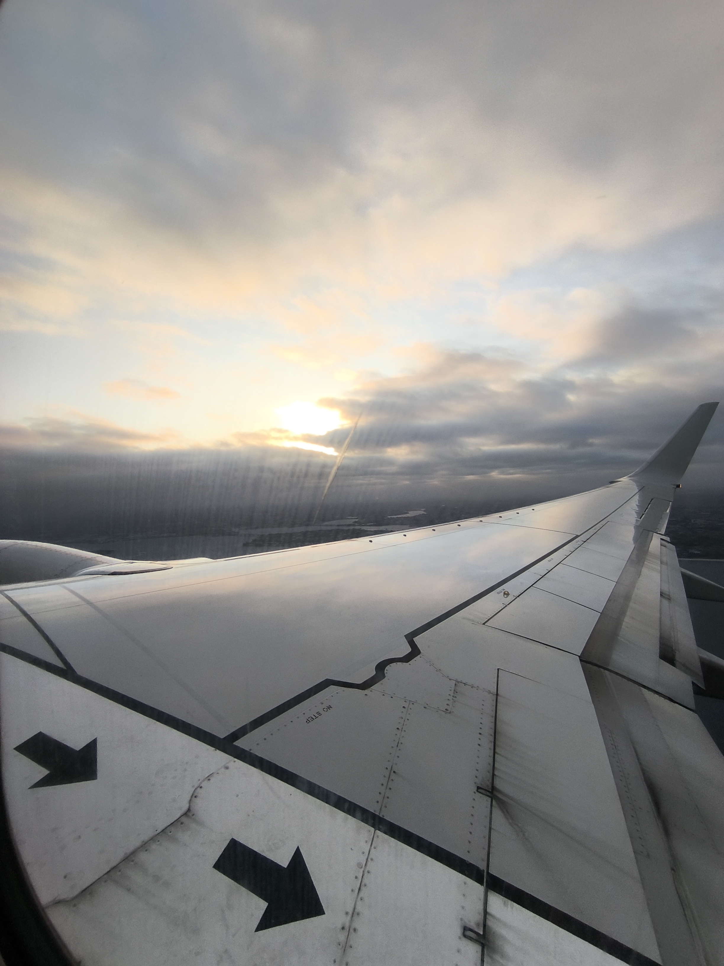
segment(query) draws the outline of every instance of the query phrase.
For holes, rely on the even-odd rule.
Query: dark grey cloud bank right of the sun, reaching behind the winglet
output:
[[[593,485],[597,468],[601,478],[604,468],[635,469],[699,403],[723,399],[722,372],[722,340],[696,377],[686,357],[675,356],[647,370],[646,382],[635,368],[616,380],[587,366],[541,374],[507,358],[431,350],[426,365],[403,377],[377,378],[352,397],[318,402],[348,419],[364,412],[348,463],[374,456],[410,477],[449,483],[489,475],[543,483],[559,474],[573,486],[576,476]],[[325,440],[339,446],[345,435],[336,430]],[[722,458],[719,416],[697,457],[712,485],[721,485]]]

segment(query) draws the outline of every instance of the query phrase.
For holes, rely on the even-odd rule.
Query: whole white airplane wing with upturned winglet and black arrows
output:
[[[576,497],[4,586],[8,966],[724,962],[664,536],[715,406]]]

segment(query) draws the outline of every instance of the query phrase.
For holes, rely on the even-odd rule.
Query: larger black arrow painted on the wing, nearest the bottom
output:
[[[213,867],[268,903],[255,932],[324,915],[320,896],[298,847],[285,868],[236,838],[230,838]]]

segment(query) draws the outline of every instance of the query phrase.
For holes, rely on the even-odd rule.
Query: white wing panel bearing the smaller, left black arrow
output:
[[[0,707],[7,808],[42,905],[78,895],[178,819],[196,785],[230,760],[7,654]],[[38,732],[69,749],[96,740],[96,777],[33,787],[46,768],[16,746]]]

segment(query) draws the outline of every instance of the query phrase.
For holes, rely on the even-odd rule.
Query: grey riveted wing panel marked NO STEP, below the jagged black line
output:
[[[400,668],[402,670],[402,668]],[[494,696],[455,682],[421,658],[369,691],[329,690],[239,739],[461,860],[485,867]],[[436,673],[445,703],[419,700]],[[441,687],[441,691],[444,686]],[[390,694],[392,691],[392,694]]]

